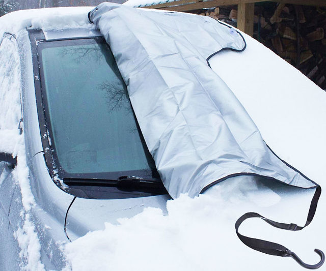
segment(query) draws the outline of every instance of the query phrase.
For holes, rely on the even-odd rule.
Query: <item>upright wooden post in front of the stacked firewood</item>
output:
[[[237,28],[251,37],[254,34],[254,9],[254,3],[238,4]]]

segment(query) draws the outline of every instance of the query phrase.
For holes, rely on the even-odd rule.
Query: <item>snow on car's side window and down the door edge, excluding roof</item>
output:
[[[20,188],[23,210],[20,212],[23,225],[17,225],[14,237],[21,249],[21,269],[43,270],[40,262],[40,243],[30,212],[35,207],[34,196],[29,182],[29,168],[25,159],[24,133],[19,133],[21,119],[19,55],[15,39],[5,35],[0,49],[0,152],[17,156],[13,176]],[[22,226],[22,227],[21,227]],[[16,227],[16,225],[15,225]]]

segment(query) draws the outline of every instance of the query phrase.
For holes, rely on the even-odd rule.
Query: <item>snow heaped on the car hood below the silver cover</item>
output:
[[[103,231],[89,232],[68,244],[67,258],[72,270],[237,270],[241,266],[252,266],[256,270],[294,269],[297,263],[293,260],[279,258],[273,261],[273,257],[268,258],[245,247],[234,232],[234,222],[242,214],[249,211],[264,214],[267,206],[277,210],[283,204],[295,201],[294,198],[286,199],[282,189],[274,187],[275,192],[250,179],[229,179],[197,198],[182,195],[168,201],[168,216],[158,208],[146,208],[131,219],[120,219],[120,225],[106,223]],[[301,196],[304,209],[311,192]],[[300,213],[298,217],[302,215]],[[291,217],[295,221],[295,216],[291,214]],[[287,240],[288,245],[292,244],[291,247],[299,251],[300,243],[297,244],[295,235],[292,242],[288,242],[291,233],[279,233],[258,221],[251,223],[251,227],[248,225],[244,224],[241,232],[254,227],[256,230],[254,234],[251,232],[252,235],[270,239],[268,234],[264,234],[264,230],[268,230],[269,234],[273,232],[279,236],[272,239],[283,243]],[[310,232],[308,235],[313,234]],[[302,235],[298,237],[304,240]],[[303,247],[305,253],[301,255],[311,256],[314,245],[316,242]],[[265,266],[266,262],[268,266]]]

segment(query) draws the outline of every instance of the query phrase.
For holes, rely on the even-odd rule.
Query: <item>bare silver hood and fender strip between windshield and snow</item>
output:
[[[169,195],[128,199],[86,199],[75,198],[61,190],[48,174],[42,153],[32,158],[30,179],[37,202],[34,208],[35,220],[49,231],[53,239],[65,241],[66,221],[69,238],[76,239],[89,231],[104,229],[104,223],[118,224],[119,218],[131,218],[146,207],[162,209],[167,213]],[[56,235],[56,236],[54,236]]]

